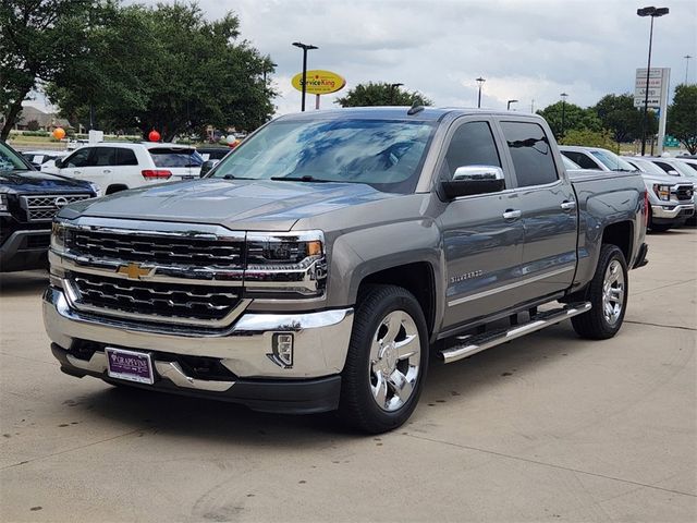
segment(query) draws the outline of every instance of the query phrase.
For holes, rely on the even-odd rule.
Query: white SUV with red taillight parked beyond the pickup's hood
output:
[[[194,147],[161,143],[105,142],[81,147],[45,169],[97,185],[101,194],[168,181],[200,178],[203,157]]]

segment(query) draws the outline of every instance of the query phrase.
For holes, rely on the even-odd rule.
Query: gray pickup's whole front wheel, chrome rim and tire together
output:
[[[428,331],[412,293],[371,285],[354,318],[339,415],[371,434],[392,430],[414,412],[428,368]]]

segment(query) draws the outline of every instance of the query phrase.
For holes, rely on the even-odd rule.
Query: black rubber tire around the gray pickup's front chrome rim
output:
[[[389,398],[389,402],[394,402],[395,406],[394,410],[388,411],[386,410],[388,402],[383,402],[384,406],[379,406],[378,397],[375,396],[377,392],[374,392],[374,390],[380,388],[380,384],[377,382],[379,378],[378,374],[383,377],[389,372],[384,370],[386,374],[383,374],[382,370],[377,372],[376,368],[380,367],[382,362],[387,362],[389,355],[380,351],[381,354],[386,354],[384,358],[380,357],[379,361],[372,361],[370,350],[374,339],[379,340],[380,336],[388,339],[388,333],[384,331],[387,328],[384,321],[393,317],[393,314],[399,315],[400,312],[406,313],[406,316],[404,316],[404,323],[399,324],[399,333],[394,337],[395,343],[401,343],[406,340],[407,326],[408,329],[412,330],[416,328],[418,332],[418,340],[416,341],[418,343],[411,345],[411,350],[418,346],[420,352],[417,357],[414,357],[416,356],[416,354],[414,354],[405,360],[395,360],[393,370],[402,372],[416,361],[418,361],[418,368],[416,369],[415,382],[411,388],[411,394],[402,404],[400,404],[402,399],[400,394],[396,393],[396,389],[392,387],[392,382],[386,380],[383,387],[387,391],[386,396],[389,398],[390,393],[393,394]],[[407,316],[413,323],[406,319]],[[401,336],[404,338],[400,341]],[[379,346],[383,345],[380,343]],[[406,366],[404,366],[405,363]],[[384,365],[389,364],[386,363]],[[400,367],[400,365],[402,365],[402,367]],[[414,370],[413,367],[408,368],[408,373]],[[346,364],[342,373],[341,399],[338,412],[342,423],[352,428],[370,434],[380,434],[398,428],[404,424],[414,412],[427,370],[428,330],[421,307],[414,295],[405,289],[394,285],[368,287],[359,296]],[[408,373],[406,376],[409,376]],[[411,376],[414,377],[414,375]]]

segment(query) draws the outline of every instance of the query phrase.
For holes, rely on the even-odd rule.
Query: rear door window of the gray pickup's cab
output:
[[[518,186],[543,185],[559,180],[554,155],[542,127],[537,123],[501,122],[501,129],[509,144]]]

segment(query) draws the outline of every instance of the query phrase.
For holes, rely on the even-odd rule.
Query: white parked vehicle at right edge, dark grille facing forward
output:
[[[628,163],[641,171],[649,194],[649,229],[663,232],[683,226],[694,219],[695,187],[669,175],[656,163],[643,157],[623,157]],[[690,207],[692,198],[693,206]]]

